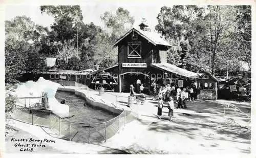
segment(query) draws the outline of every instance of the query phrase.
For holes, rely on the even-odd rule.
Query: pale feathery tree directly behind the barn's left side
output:
[[[114,42],[132,29],[135,20],[128,10],[121,7],[115,14],[104,12],[100,18],[105,24],[105,29],[99,30],[96,35],[94,64],[109,67],[117,61],[117,48],[113,48]]]

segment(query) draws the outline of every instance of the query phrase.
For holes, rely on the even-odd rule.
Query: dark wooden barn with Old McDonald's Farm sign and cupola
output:
[[[157,87],[166,84],[186,87],[200,78],[197,73],[167,63],[166,51],[171,47],[170,44],[160,34],[147,31],[147,25],[143,22],[139,27],[131,29],[114,43],[114,47],[118,47],[118,63],[93,73],[92,84],[107,88],[106,85],[113,82],[101,83],[99,74],[109,74],[116,81],[113,91],[130,92],[130,85],[136,87],[139,79],[145,87],[144,92],[150,94],[154,83]]]

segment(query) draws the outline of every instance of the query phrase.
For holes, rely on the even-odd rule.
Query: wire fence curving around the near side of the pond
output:
[[[31,109],[15,105],[11,117],[32,125],[46,127],[52,137],[68,141],[92,143],[110,139],[120,132],[126,123],[136,119],[132,112],[123,110],[117,117],[101,123],[78,123],[65,120],[49,110]]]

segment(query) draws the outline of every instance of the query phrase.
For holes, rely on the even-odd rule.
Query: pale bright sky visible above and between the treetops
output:
[[[91,3],[87,5],[81,5],[83,22],[88,24],[93,22],[95,25],[104,27],[103,22],[100,19],[100,16],[105,11],[111,11],[113,13],[116,12],[118,7],[123,7],[127,9],[131,16],[135,18],[134,27],[137,27],[142,17],[147,19],[147,23],[151,29],[154,30],[154,27],[157,25],[157,15],[160,12],[161,7],[164,4],[148,4],[145,3],[136,3],[133,4],[121,4],[121,3]],[[5,9],[5,19],[11,20],[15,16],[28,16],[32,21],[36,22],[38,25],[42,25],[44,27],[50,27],[53,24],[53,17],[47,14],[41,14],[39,6],[23,6],[23,5],[11,5],[6,6]]]

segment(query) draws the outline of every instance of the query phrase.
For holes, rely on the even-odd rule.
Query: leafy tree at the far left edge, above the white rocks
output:
[[[10,21],[5,21],[5,31],[5,81],[14,83],[28,70],[26,66],[31,56],[39,57],[38,43],[42,37],[47,35],[47,29],[35,25],[29,17],[16,16]],[[35,54],[28,54],[32,50]],[[30,70],[33,70],[33,67]]]

